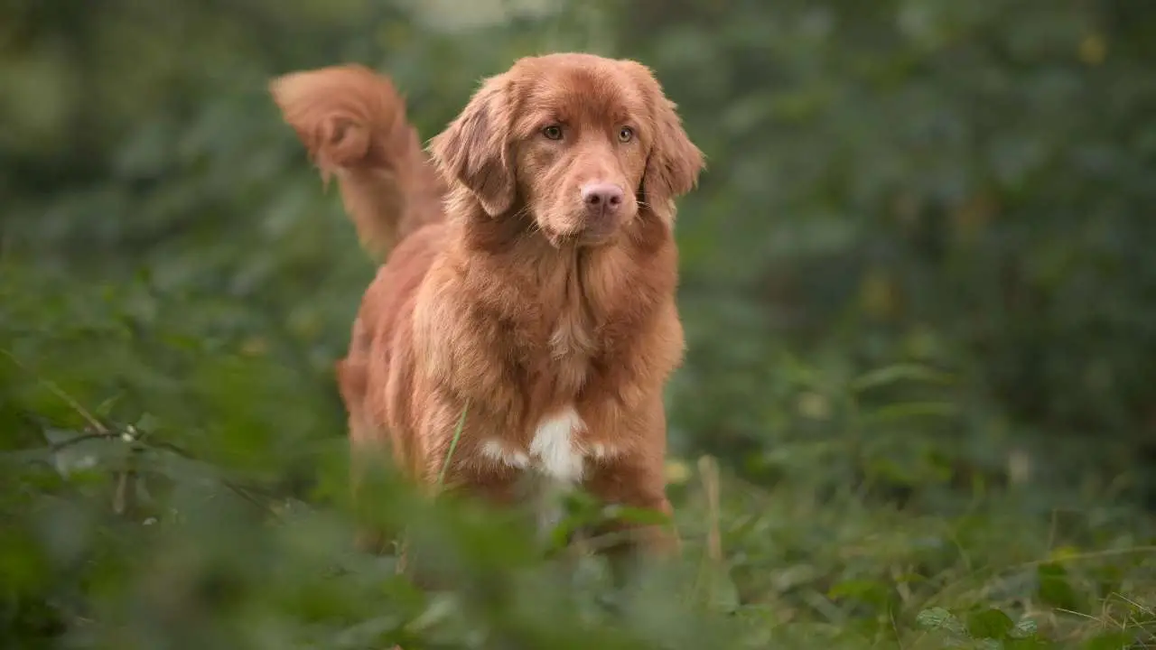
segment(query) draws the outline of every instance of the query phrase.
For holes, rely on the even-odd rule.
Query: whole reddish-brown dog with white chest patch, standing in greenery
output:
[[[294,73],[272,91],[366,246],[390,251],[338,364],[355,457],[388,446],[428,486],[449,463],[447,483],[503,503],[527,474],[669,514],[674,199],[703,156],[650,71],[520,59],[431,141],[432,165],[366,68]],[[667,529],[632,532],[677,547]]]

